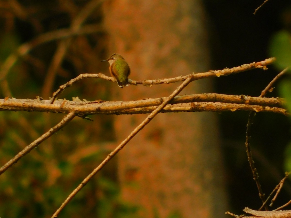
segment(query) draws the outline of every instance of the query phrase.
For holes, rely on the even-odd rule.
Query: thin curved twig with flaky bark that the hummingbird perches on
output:
[[[145,86],[152,86],[152,85],[158,85],[158,84],[162,84],[162,83],[175,83],[175,82],[179,82],[179,81],[184,81],[185,79],[192,77],[192,81],[194,80],[198,80],[198,79],[203,79],[203,78],[208,78],[208,77],[219,77],[219,76],[226,76],[229,74],[236,74],[239,72],[244,72],[247,70],[251,70],[254,68],[262,68],[262,69],[266,69],[265,67],[267,65],[272,64],[275,61],[275,58],[268,58],[266,60],[263,61],[259,61],[259,62],[253,62],[253,63],[249,63],[249,64],[244,64],[241,65],[239,67],[233,67],[233,68],[225,68],[222,70],[210,70],[208,72],[204,72],[204,73],[196,73],[196,74],[188,74],[186,76],[177,76],[174,78],[167,78],[167,79],[156,79],[156,80],[143,80],[143,81],[133,81],[133,80],[129,80],[129,84],[131,85],[145,85]],[[77,76],[74,79],[71,79],[70,81],[68,81],[67,83],[65,83],[64,85],[61,85],[59,87],[59,89],[53,93],[52,98],[51,98],[51,104],[54,103],[54,100],[56,99],[56,97],[61,94],[63,92],[63,90],[71,85],[73,85],[74,83],[84,79],[84,78],[102,78],[108,81],[112,81],[112,82],[116,82],[116,79],[110,76],[105,76],[102,73],[98,73],[98,74],[80,74],[79,76]]]

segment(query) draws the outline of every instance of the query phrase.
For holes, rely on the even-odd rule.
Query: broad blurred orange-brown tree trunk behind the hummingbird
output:
[[[131,67],[133,80],[170,78],[209,70],[205,14],[196,0],[104,2],[109,54]],[[152,87],[114,84],[113,99],[170,95],[179,84]],[[210,80],[183,93],[211,92]],[[147,115],[116,117],[121,142]],[[118,154],[122,199],[139,205],[139,217],[223,217],[223,165],[214,113],[158,114]]]

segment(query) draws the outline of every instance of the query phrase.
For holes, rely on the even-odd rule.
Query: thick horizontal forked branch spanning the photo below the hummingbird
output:
[[[156,106],[166,101],[164,98],[141,99],[135,101],[75,101],[57,100],[50,104],[49,100],[40,99],[0,99],[0,111],[37,111],[69,113],[76,115],[94,114],[138,114],[150,113]],[[226,95],[217,93],[180,95],[171,100],[161,112],[182,111],[236,111],[275,112],[288,115],[283,108],[283,99],[251,97],[245,95]]]

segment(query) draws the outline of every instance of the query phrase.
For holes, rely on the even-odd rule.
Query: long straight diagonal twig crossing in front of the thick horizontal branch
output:
[[[61,210],[69,203],[70,200],[90,181],[90,179],[106,165],[106,163],[113,158],[118,151],[123,149],[123,147],[146,125],[148,124],[154,117],[159,113],[160,110],[164,108],[166,104],[168,104],[177,94],[179,94],[184,87],[186,87],[192,81],[191,77],[188,77],[162,104],[160,104],[150,115],[148,115],[145,120],[139,124],[126,138],[121,142],[103,161],[100,163],[98,167],[96,167],[91,174],[89,174],[82,182],[78,185],[78,187],[68,196],[68,198],[62,203],[62,205],[56,210],[52,218],[57,217]]]

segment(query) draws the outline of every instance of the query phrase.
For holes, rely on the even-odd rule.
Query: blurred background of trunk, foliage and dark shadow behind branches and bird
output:
[[[183,92],[259,96],[291,60],[290,1],[269,0],[253,15],[262,3],[0,0],[0,98],[48,99],[81,73],[109,76],[108,63],[100,60],[114,52],[125,57],[133,80],[230,68],[281,55],[267,71],[193,82]],[[267,97],[288,99],[289,77],[283,76]],[[127,101],[166,97],[177,86],[121,90],[115,83],[86,79],[59,97]],[[261,201],[244,146],[248,114],[157,115],[60,217],[230,217],[224,212],[258,209]],[[2,111],[1,165],[63,116]],[[0,176],[0,217],[50,217],[145,117],[94,115],[93,122],[75,118]],[[258,113],[251,145],[268,195],[291,170],[290,118]],[[291,183],[286,180],[272,209],[290,198]]]

